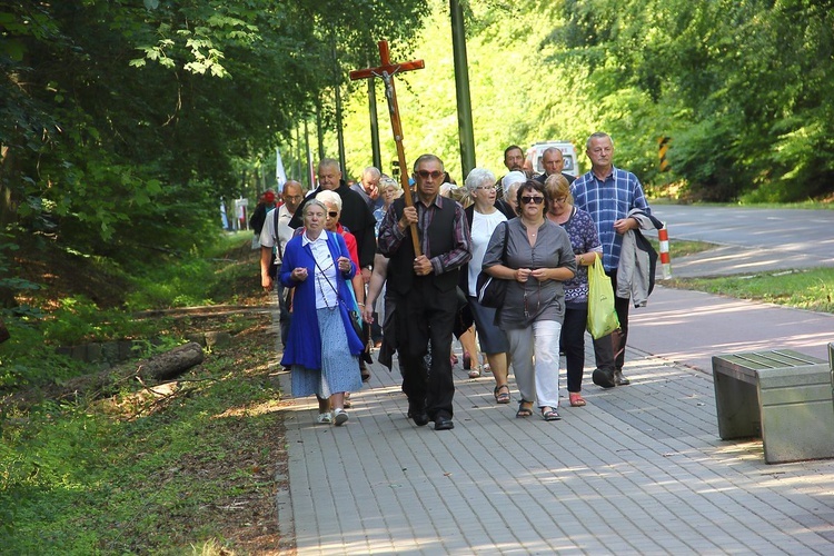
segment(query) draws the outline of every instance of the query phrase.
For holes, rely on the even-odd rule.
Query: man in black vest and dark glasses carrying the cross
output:
[[[439,195],[443,161],[423,155],[414,163],[417,200],[394,201],[379,228],[379,251],[388,257],[388,296],[394,298],[395,329],[403,391],[408,417],[421,427],[449,430],[455,383],[451,378],[451,332],[457,314],[457,282],[461,265],[471,258],[469,226],[464,208]],[[416,255],[413,244],[417,232]],[[431,367],[425,355],[431,341]]]

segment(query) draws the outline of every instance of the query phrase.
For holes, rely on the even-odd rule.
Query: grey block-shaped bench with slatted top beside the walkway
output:
[[[824,360],[790,349],[714,356],[713,383],[723,440],[762,438],[768,464],[834,457],[834,374]]]

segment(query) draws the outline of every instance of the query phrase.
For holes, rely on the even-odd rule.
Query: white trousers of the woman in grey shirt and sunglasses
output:
[[[559,334],[562,322],[539,320],[506,330],[513,371],[522,399],[538,407],[559,406]]]

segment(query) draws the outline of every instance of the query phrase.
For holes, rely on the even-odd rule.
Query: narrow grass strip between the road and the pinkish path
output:
[[[725,278],[673,278],[663,285],[834,314],[834,268],[814,268]]]

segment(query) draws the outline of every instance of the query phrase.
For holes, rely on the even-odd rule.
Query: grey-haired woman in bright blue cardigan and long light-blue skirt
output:
[[[325,205],[309,200],[304,206],[305,231],[284,252],[281,284],[292,288],[294,296],[281,365],[291,369],[294,397],[318,398],[317,423],[344,425],[345,393],[363,386],[358,356],[364,346],[348,317],[348,280],[356,265],[345,239],[325,230],[326,220]]]

